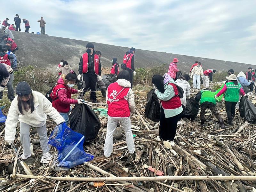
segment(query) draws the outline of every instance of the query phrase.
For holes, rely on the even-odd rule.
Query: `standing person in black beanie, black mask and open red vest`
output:
[[[81,75],[83,75],[84,94],[90,87],[92,103],[99,103],[96,99],[96,86],[97,75],[99,75],[99,80],[102,79],[101,64],[99,56],[95,54],[94,45],[92,43],[86,45],[86,53],[84,53],[80,59],[78,72],[78,80],[80,80]]]

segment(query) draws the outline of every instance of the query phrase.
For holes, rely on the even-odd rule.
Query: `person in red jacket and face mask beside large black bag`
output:
[[[52,106],[65,119],[66,124],[69,124],[70,104],[82,104],[81,99],[71,99],[71,94],[82,92],[72,88],[77,81],[76,73],[71,71],[68,75],[61,75],[58,84],[52,89]]]

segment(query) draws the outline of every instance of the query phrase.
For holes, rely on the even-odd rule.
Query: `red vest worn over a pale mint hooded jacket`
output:
[[[181,107],[179,92],[178,92],[178,89],[175,84],[169,83],[169,85],[172,85],[172,87],[174,89],[175,96],[172,97],[168,101],[161,100],[161,104],[164,109],[177,109],[177,108]]]

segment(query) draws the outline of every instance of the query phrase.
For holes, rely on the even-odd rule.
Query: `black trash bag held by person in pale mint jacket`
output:
[[[147,96],[148,96],[148,101],[146,104],[145,116],[154,122],[159,122],[160,121],[160,102],[156,97],[155,89],[152,89]]]

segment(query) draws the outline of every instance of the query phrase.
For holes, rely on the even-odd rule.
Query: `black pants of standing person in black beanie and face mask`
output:
[[[97,86],[97,75],[83,73],[84,94],[90,87],[92,100],[96,100],[96,88],[97,88],[96,86]]]

